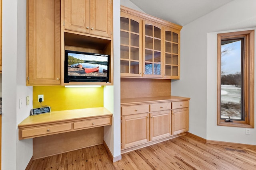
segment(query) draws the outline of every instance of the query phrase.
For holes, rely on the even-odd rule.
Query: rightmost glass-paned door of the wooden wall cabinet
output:
[[[180,78],[179,33],[164,27],[164,78]]]

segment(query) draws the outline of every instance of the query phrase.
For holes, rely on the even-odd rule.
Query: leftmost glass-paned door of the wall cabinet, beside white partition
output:
[[[121,13],[120,27],[120,64],[121,76],[142,75],[141,21]]]

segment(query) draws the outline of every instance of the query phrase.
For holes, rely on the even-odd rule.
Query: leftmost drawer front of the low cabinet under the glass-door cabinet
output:
[[[122,106],[122,115],[133,115],[136,113],[148,113],[149,105]]]

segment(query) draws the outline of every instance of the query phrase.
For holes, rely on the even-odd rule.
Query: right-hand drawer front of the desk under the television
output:
[[[112,117],[74,122],[74,129],[92,128],[112,124]]]

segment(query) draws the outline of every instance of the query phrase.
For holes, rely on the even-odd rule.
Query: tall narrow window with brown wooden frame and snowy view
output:
[[[254,30],[217,41],[217,125],[254,128]]]

